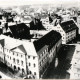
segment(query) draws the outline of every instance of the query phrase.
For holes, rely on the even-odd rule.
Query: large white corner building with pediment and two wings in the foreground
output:
[[[34,42],[1,35],[0,61],[28,78],[40,79],[56,58],[61,44],[61,35],[53,30]]]

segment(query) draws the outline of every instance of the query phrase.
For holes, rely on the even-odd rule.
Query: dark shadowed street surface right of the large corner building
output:
[[[44,79],[69,79],[69,73],[67,70],[70,68],[70,61],[72,59],[72,55],[74,53],[75,46],[74,45],[64,45],[59,53],[59,64],[56,68],[54,68],[54,61],[49,67],[48,74]]]

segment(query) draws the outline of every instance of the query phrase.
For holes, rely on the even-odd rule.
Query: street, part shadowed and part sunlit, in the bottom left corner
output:
[[[8,79],[8,78],[22,79],[23,78],[23,77],[19,76],[17,72],[13,71],[12,69],[10,69],[9,67],[7,67],[2,62],[0,62],[0,75],[4,76],[5,79]]]

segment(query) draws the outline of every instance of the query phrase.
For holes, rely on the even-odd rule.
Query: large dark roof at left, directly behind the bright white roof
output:
[[[30,36],[29,28],[24,23],[9,26],[15,38],[27,39]]]

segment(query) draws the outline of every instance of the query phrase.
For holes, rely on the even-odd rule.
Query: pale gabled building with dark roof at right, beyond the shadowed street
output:
[[[57,25],[57,31],[62,36],[62,43],[66,44],[77,36],[78,27],[73,20],[62,22]]]

